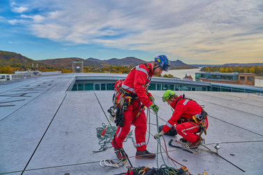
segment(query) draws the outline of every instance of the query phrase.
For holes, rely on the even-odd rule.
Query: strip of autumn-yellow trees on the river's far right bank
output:
[[[201,68],[200,71],[220,73],[255,73],[257,76],[263,76],[263,66],[207,66]]]

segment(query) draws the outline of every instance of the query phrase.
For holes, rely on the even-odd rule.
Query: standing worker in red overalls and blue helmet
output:
[[[163,71],[168,71],[169,68],[170,62],[167,57],[159,55],[154,58],[154,62],[139,64],[131,69],[120,87],[116,99],[115,122],[118,128],[111,142],[119,159],[126,158],[123,151],[123,141],[130,131],[131,124],[135,126],[136,158],[155,158],[156,155],[146,149],[147,121],[143,109],[150,107],[155,113],[158,112],[159,108],[154,104],[154,97],[147,92],[147,89],[152,75],[161,75]]]

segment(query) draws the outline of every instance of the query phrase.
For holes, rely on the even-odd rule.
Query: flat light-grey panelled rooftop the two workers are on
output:
[[[62,74],[0,82],[0,174],[119,174],[124,167],[100,167],[100,160],[115,159],[114,149],[98,151],[96,128],[107,124],[107,109],[114,91],[67,91],[76,75]],[[159,125],[172,115],[161,101],[163,91],[151,91],[160,107]],[[209,114],[206,147],[199,155],[168,146],[169,155],[188,167],[191,174],[263,174],[263,96],[251,93],[176,91],[205,105]],[[97,100],[97,98],[98,100]],[[101,106],[100,106],[101,105]],[[146,110],[145,110],[145,113]],[[111,125],[114,125],[111,123]],[[131,127],[134,131],[134,127]],[[156,152],[156,116],[151,113],[147,149]],[[135,138],[135,137],[134,137]],[[163,144],[163,139],[161,139]],[[131,164],[157,167],[156,159],[136,159],[129,139],[124,143]],[[163,153],[167,165],[173,164]],[[229,162],[228,162],[228,161]],[[162,165],[161,156],[158,164]],[[232,163],[232,164],[231,164]],[[243,171],[242,171],[243,170]]]

